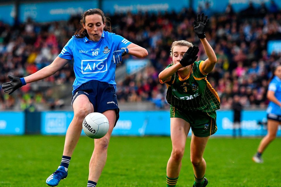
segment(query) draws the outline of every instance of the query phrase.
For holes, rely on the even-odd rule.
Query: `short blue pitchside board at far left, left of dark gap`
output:
[[[0,112],[0,134],[24,134],[24,112]]]

